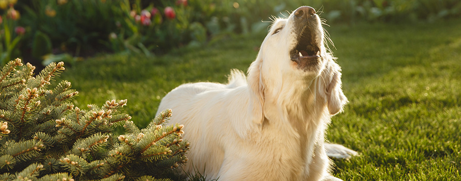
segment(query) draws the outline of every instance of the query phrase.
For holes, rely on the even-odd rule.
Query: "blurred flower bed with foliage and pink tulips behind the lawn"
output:
[[[329,24],[461,17],[460,0],[0,0],[0,65],[16,57],[40,69],[101,52],[165,54],[266,31],[271,16],[301,5]]]

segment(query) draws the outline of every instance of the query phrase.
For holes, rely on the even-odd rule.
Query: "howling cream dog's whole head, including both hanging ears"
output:
[[[312,7],[299,7],[288,18],[274,21],[248,69],[250,89],[261,100],[255,112],[263,110],[267,92],[279,97],[290,92],[285,89],[312,88],[317,91],[309,90],[311,94],[327,101],[331,115],[342,110],[347,99],[341,90],[340,68],[327,52],[324,39],[321,20]]]

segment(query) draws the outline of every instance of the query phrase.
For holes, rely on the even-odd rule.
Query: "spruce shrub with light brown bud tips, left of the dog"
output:
[[[70,82],[47,89],[64,63],[34,68],[16,59],[0,71],[0,181],[156,180],[187,162],[183,126],[166,125],[171,110],[140,130],[121,113],[126,99],[82,110]],[[121,125],[126,134],[114,135]]]

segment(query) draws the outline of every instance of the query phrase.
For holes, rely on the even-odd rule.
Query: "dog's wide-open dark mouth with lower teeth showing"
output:
[[[294,49],[290,51],[291,60],[300,63],[300,62],[311,62],[320,58],[320,48],[317,45],[312,44],[312,35],[309,30],[302,31],[297,45]]]

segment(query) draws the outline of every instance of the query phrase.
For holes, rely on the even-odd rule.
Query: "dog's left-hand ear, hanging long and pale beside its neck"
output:
[[[264,83],[261,76],[263,59],[258,56],[248,68],[248,89],[250,92],[248,114],[254,123],[263,125],[264,120]]]

